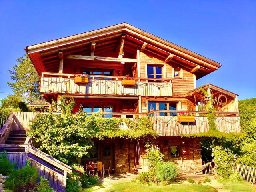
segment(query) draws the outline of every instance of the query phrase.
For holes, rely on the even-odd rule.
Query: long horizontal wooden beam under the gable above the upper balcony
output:
[[[109,61],[109,62],[127,62],[127,63],[137,63],[137,59],[128,58],[115,58],[115,57],[92,57],[84,55],[68,55],[67,59],[80,59],[80,60],[93,60],[93,61]]]

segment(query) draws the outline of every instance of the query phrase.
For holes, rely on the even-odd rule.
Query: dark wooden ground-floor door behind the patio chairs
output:
[[[103,144],[102,162],[104,164],[105,169],[109,168],[109,163],[110,163],[110,172],[111,173],[114,172],[114,144]]]

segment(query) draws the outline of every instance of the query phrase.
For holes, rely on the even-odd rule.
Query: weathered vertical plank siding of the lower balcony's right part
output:
[[[178,136],[209,131],[206,116],[196,116],[195,119],[195,122],[178,122],[177,116],[152,116],[154,130],[159,136]],[[240,117],[216,117],[215,124],[220,132],[241,132]]]

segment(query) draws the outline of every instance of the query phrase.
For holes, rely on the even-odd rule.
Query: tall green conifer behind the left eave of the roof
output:
[[[13,92],[22,96],[25,101],[32,101],[34,98],[40,96],[39,81],[40,78],[28,55],[19,57],[18,64],[9,70],[10,77],[15,81],[14,83],[7,82],[12,88]]]

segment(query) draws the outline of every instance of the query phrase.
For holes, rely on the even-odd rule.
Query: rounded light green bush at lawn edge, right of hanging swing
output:
[[[174,164],[174,162],[167,161],[157,162],[156,168],[156,178],[161,182],[166,182],[174,179],[180,173],[179,168]]]

